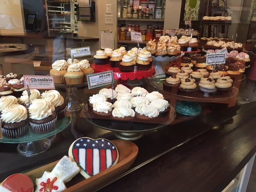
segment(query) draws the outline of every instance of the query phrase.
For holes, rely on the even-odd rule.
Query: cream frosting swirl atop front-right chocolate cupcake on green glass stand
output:
[[[41,120],[53,114],[55,107],[46,99],[34,99],[29,107],[29,117]]]

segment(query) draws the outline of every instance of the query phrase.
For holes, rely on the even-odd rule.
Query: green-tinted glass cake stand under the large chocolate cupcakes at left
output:
[[[48,137],[63,131],[71,123],[71,117],[64,117],[56,121],[56,129],[47,134],[36,134],[29,126],[29,132],[23,137],[9,139],[3,137],[0,143],[19,143],[17,151],[21,155],[33,156],[46,151],[51,146],[51,141]]]

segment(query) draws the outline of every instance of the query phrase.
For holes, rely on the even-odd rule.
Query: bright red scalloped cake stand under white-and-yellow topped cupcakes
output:
[[[100,73],[104,71],[113,71],[113,77],[115,80],[121,79],[121,80],[134,80],[134,79],[142,79],[142,78],[148,78],[155,75],[155,68],[152,66],[148,71],[133,71],[133,72],[121,72],[119,71],[118,67],[111,67],[109,64],[106,65],[96,65],[93,63],[91,65],[91,68],[94,69],[94,73]]]

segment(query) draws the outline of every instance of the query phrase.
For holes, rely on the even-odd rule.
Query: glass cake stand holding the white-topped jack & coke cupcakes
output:
[[[164,117],[152,118],[152,122],[150,123],[140,122],[139,119],[137,120],[136,118],[134,118],[132,121],[127,122],[130,124],[130,126],[127,127],[126,125],[124,125],[126,124],[125,121],[122,121],[122,120],[113,121],[110,119],[111,117],[104,118],[104,117],[99,117],[95,115],[92,109],[91,110],[89,109],[88,111],[87,104],[85,105],[82,113],[85,119],[88,120],[90,123],[98,127],[101,127],[103,129],[112,131],[114,133],[114,136],[117,139],[125,139],[125,140],[139,139],[146,132],[154,131],[165,125],[168,125],[176,117],[175,109],[171,106],[169,108],[169,114]]]

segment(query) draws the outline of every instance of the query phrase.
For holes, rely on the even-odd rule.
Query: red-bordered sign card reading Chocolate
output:
[[[55,89],[53,76],[48,75],[23,75],[24,88],[27,89]]]

